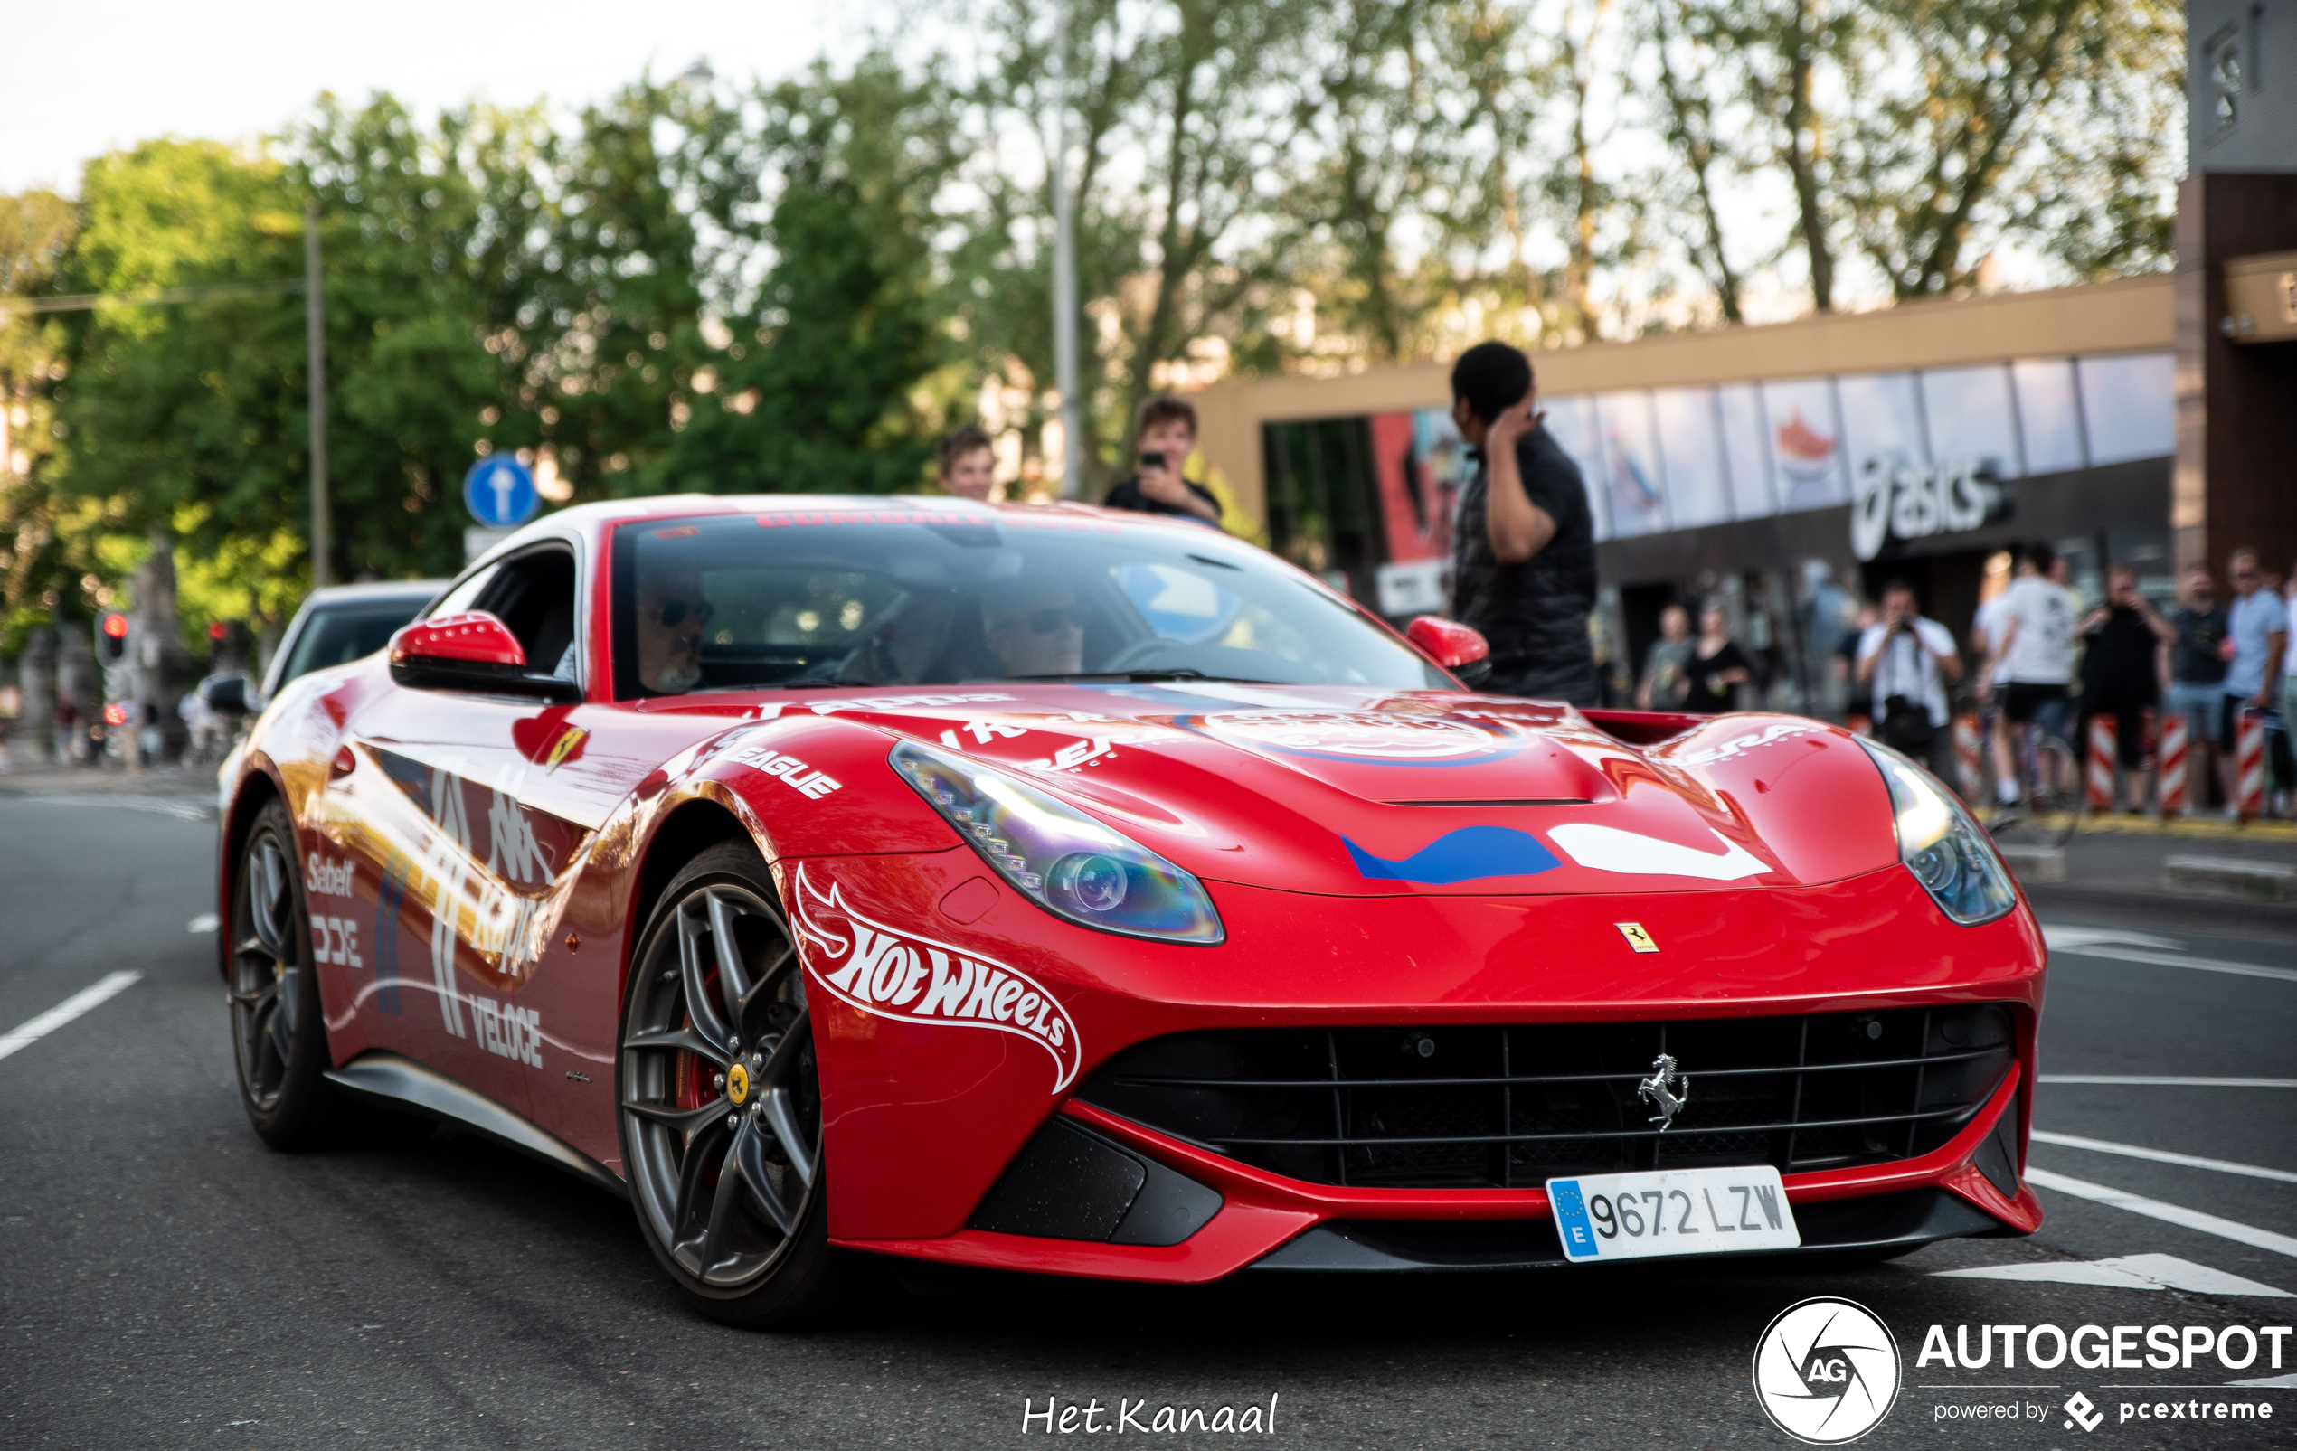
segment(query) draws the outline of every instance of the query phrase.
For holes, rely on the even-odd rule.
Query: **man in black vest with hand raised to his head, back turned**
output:
[[[1452,365],[1452,422],[1482,452],[1452,523],[1452,615],[1491,641],[1482,689],[1596,705],[1594,517],[1537,399],[1532,360],[1505,342]]]

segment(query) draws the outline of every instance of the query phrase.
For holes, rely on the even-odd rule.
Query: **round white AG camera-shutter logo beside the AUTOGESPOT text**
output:
[[[1854,1299],[1789,1304],[1755,1341],[1755,1400],[1812,1446],[1856,1442],[1897,1403],[1902,1361],[1890,1327]]]

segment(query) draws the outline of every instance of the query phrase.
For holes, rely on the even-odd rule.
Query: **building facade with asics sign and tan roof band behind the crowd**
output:
[[[2109,562],[2173,590],[2173,278],[1544,351],[1534,370],[1594,505],[1617,693],[1668,604],[1720,602],[1771,705],[1838,709],[1835,647],[1888,579],[1959,641],[2024,540],[2056,544],[2093,597]],[[1470,468],[1445,367],[1197,404],[1279,553],[1385,615],[1445,608]]]

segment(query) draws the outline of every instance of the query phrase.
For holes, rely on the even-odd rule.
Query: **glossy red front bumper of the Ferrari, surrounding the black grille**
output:
[[[834,866],[832,866],[834,863]],[[2026,1084],[2042,1001],[2042,941],[2028,911],[1980,928],[1948,923],[1904,868],[1822,889],[1617,893],[1557,898],[1312,898],[1211,884],[1229,941],[1185,948],[1116,939],[1059,923],[1018,895],[962,923],[937,905],[979,891],[965,849],[827,859],[857,907],[917,923],[942,944],[1027,971],[1068,1010],[1082,1056],[1066,1081],[1013,1033],[896,1022],[822,1003],[832,1240],[848,1249],[1130,1281],[1201,1283],[1268,1260],[1293,1242],[1374,1235],[1330,1226],[1548,1221],[1546,1192],[1367,1189],[1266,1173],[1096,1109],[1075,1088],[1119,1052],[1167,1033],[1270,1026],[1571,1024],[1780,1012],[1865,1012],[1941,1003],[2008,1003],[2014,1065],[1985,1107],[1920,1157],[1861,1169],[1787,1173],[1799,1215],[1817,1226],[1838,1201],[1955,1201],[1884,1240],[1842,1228],[1831,1247],[1907,1235],[2031,1233],[2040,1205],[2014,1175],[1987,1182],[1973,1162],[2010,1116],[2010,1159],[2024,1162]],[[1635,921],[1661,953],[1633,953],[1615,923]],[[1206,1185],[1220,1210],[1178,1244],[1123,1244],[972,1228],[976,1210],[1024,1146],[1066,1116],[1146,1162]],[[1911,1201],[1907,1201],[1911,1203]],[[1941,1201],[1927,1198],[1925,1205]],[[1987,1224],[1959,1217],[1957,1205]],[[1904,1219],[1904,1212],[1902,1212]],[[1939,1228],[1939,1235],[1929,1235]],[[1316,1240],[1302,1240],[1323,1231]],[[1401,1231],[1397,1231],[1401,1233]],[[1498,1233],[1498,1231],[1493,1231]],[[1293,1251],[1293,1258],[1307,1249]],[[1541,1263],[1521,1244],[1505,1263]],[[1530,1258],[1521,1258],[1521,1256]],[[1387,1258],[1410,1258],[1390,1254]],[[1484,1256],[1488,1258],[1488,1256]],[[1270,1267],[1282,1267],[1277,1258]]]

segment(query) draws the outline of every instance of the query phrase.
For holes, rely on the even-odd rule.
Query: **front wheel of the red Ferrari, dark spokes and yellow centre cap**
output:
[[[797,946],[749,843],[696,856],[639,941],[618,1061],[648,1249],[728,1325],[825,1306],[822,1095]]]

